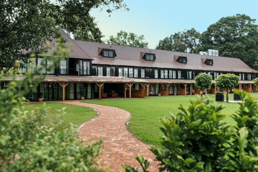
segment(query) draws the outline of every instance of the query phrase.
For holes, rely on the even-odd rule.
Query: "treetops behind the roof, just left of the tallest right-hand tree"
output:
[[[200,33],[194,28],[175,33],[159,41],[156,49],[193,53],[199,44]]]

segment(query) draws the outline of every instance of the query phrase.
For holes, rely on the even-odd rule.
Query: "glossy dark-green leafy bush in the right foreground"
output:
[[[228,126],[221,105],[211,105],[204,97],[190,101],[188,109],[179,107],[177,115],[161,120],[163,149],[150,150],[160,161],[159,171],[257,171],[258,101],[246,92],[235,90],[244,103],[232,114],[237,126]],[[127,172],[148,171],[142,156],[141,167],[126,165]]]

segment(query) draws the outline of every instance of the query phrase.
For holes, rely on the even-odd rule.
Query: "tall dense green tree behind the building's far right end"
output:
[[[258,25],[245,14],[223,17],[211,24],[200,37],[195,53],[215,49],[220,56],[239,58],[258,69]]]

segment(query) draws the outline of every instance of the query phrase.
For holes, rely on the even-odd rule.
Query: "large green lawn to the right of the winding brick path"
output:
[[[258,93],[252,93],[253,96],[258,96]],[[189,100],[196,99],[195,96],[161,96],[161,97],[146,97],[145,99],[113,99],[113,100],[84,100],[85,103],[101,104],[125,109],[131,113],[129,130],[139,140],[155,147],[161,147],[162,132],[160,131],[160,118],[170,116],[171,113],[179,112],[179,105],[187,108],[190,104]],[[211,103],[215,101],[215,95],[211,95]],[[226,97],[225,97],[226,99]],[[233,100],[233,94],[229,94],[229,100]],[[214,102],[213,102],[214,101]],[[224,102],[217,102],[223,104]],[[225,103],[225,108],[222,113],[227,115],[224,119],[230,125],[235,125],[233,119],[229,116],[238,109],[237,103]]]

